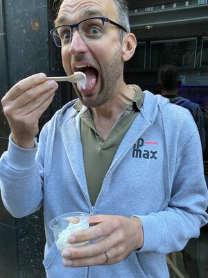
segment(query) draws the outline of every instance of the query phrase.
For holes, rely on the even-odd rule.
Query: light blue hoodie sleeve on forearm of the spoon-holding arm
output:
[[[9,138],[8,150],[0,159],[1,197],[6,209],[15,217],[29,215],[42,204],[42,177],[35,163],[34,149],[23,149]]]

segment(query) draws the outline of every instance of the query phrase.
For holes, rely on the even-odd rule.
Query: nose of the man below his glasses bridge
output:
[[[71,44],[69,45],[69,52],[73,56],[78,56],[79,54],[87,53],[87,45],[85,44],[85,40],[80,36],[78,31],[74,31]]]

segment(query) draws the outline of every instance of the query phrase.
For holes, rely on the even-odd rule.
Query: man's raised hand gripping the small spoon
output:
[[[55,81],[46,81],[46,74],[35,74],[19,81],[1,99],[12,140],[20,147],[34,147],[39,119],[51,104],[57,88]]]

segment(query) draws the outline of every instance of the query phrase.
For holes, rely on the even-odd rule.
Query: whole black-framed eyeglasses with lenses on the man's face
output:
[[[105,22],[109,22],[127,32],[123,26],[113,22],[107,17],[92,17],[78,22],[77,24],[58,26],[53,28],[50,33],[53,36],[56,46],[63,47],[64,45],[70,44],[73,28],[78,28],[78,32],[84,40],[98,40],[103,35]]]

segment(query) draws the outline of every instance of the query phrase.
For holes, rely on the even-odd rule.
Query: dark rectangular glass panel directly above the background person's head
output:
[[[196,39],[168,40],[151,43],[151,69],[157,69],[164,64],[177,67],[195,67]]]

